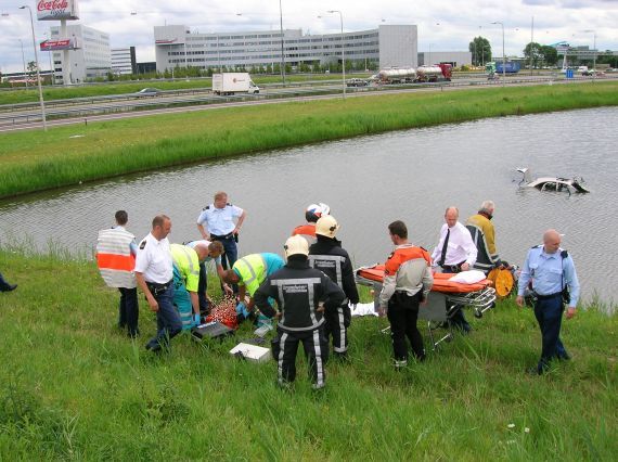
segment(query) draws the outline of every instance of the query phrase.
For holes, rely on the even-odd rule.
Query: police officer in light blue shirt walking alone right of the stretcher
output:
[[[561,235],[555,230],[545,231],[543,244],[528,251],[518,282],[519,307],[524,306],[524,292],[530,281],[537,296],[535,317],[542,335],[541,359],[532,372],[540,375],[552,359],[570,358],[561,341],[562,318],[565,304],[567,319],[575,316],[579,299],[575,264],[568,252],[561,248]]]

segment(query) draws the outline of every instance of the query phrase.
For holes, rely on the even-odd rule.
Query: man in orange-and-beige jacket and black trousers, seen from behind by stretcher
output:
[[[408,344],[410,339],[414,356],[425,359],[423,337],[416,320],[419,305],[426,303],[434,285],[432,259],[427,251],[408,242],[408,228],[397,220],[388,226],[390,240],[396,245],[384,266],[384,282],[379,294],[379,315],[386,312],[390,321],[390,336],[395,354],[395,368],[408,365]]]

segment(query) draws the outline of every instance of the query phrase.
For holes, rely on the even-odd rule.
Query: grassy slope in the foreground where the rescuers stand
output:
[[[475,331],[397,373],[385,320],[353,319],[349,364],[323,393],[304,360],[295,390],[274,362],[176,338],[144,350],[116,326],[117,292],[92,262],[0,252],[17,291],[0,294],[1,460],[615,460],[617,318],[590,308],[565,322],[572,360],[545,376],[531,310],[499,304]],[[472,317],[471,317],[472,318]],[[424,333],[425,339],[427,335]],[[300,354],[301,356],[301,354]]]

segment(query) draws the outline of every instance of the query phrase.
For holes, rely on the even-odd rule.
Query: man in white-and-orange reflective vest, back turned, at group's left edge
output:
[[[110,287],[120,292],[118,328],[127,329],[131,338],[139,335],[138,288],[133,268],[138,246],[136,236],[125,229],[129,216],[125,210],[115,215],[116,226],[99,232],[96,261],[101,277]]]

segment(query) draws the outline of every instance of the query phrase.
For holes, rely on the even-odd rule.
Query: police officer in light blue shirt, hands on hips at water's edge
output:
[[[204,207],[197,217],[197,229],[206,241],[220,241],[226,248],[223,269],[232,268],[239,258],[236,242],[247,213],[228,202],[228,194],[219,191],[213,204]],[[234,223],[234,218],[237,219]],[[207,230],[206,230],[207,228]]]

